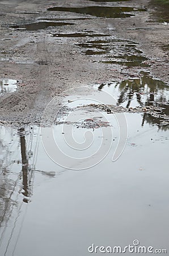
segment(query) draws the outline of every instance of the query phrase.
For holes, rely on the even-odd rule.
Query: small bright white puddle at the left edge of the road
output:
[[[3,79],[0,81],[0,95],[2,93],[15,92],[17,89],[17,81],[12,79]]]

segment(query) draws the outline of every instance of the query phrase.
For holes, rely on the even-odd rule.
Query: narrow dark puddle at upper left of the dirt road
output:
[[[64,23],[64,22],[37,22],[31,24],[22,24],[11,26],[11,28],[15,28],[16,30],[44,30],[47,27],[57,27],[57,26],[66,26],[66,25],[73,25],[73,23]]]

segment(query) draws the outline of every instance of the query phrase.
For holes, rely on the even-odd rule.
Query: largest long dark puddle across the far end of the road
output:
[[[89,14],[105,18],[126,18],[134,16],[130,12],[145,11],[144,9],[134,9],[132,7],[105,7],[105,6],[88,6],[88,7],[52,7],[48,11],[69,11],[71,13]]]

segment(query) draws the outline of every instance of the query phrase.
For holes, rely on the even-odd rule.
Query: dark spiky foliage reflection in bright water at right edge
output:
[[[125,108],[145,106],[142,125],[144,122],[167,129],[169,122],[169,87],[160,80],[153,79],[147,73],[142,72],[141,79],[124,80],[120,83],[99,85],[99,90],[106,90],[116,97],[117,105]],[[152,114],[146,113],[147,106],[157,108]]]

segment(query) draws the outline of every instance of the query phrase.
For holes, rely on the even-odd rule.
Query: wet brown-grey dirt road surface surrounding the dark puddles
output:
[[[22,1],[1,1],[0,5],[0,76],[1,80],[18,80],[16,92],[4,93],[0,97],[2,123],[39,124],[48,102],[57,96],[59,109],[66,95],[64,91],[70,88],[92,88],[95,84],[140,78],[141,71],[150,72],[151,76],[168,82],[168,52],[163,48],[168,43],[168,23],[160,23],[152,16],[155,9],[150,2],[106,3],[106,6],[113,8],[126,6],[134,10],[146,10],[129,12],[132,15],[128,18],[96,18],[89,14],[48,11],[48,8],[56,6],[52,1],[48,1],[48,4],[45,1],[31,1],[28,4]],[[105,6],[105,3],[74,0],[70,4],[69,1],[58,1],[57,6]],[[16,25],[22,27],[24,24],[37,24],[44,22],[44,19],[47,22],[71,24],[34,31],[30,27],[29,30],[11,28]],[[62,36],[72,33],[79,33],[79,36]],[[53,36],[56,34],[57,36]],[[58,36],[60,34],[61,37]],[[134,61],[126,60],[126,57],[119,61],[106,59],[109,46],[105,49],[108,52],[105,56],[102,56],[102,52],[87,54],[85,48],[81,47],[91,40],[103,41],[109,38],[114,41],[127,40],[130,44],[133,42],[131,51],[133,54],[140,51],[138,55],[145,57],[143,64],[140,62],[133,65]],[[112,41],[111,47],[115,45],[116,42]],[[115,55],[118,55],[119,49],[121,55],[124,55],[126,49],[130,51],[130,48],[121,45],[120,42],[120,46],[113,48]],[[125,61],[130,61],[131,64],[128,65]]]

